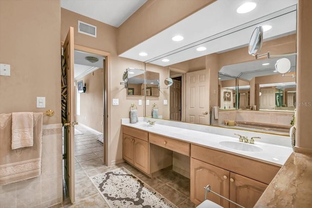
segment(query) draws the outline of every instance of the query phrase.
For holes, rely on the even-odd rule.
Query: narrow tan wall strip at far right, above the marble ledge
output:
[[[312,1],[298,1],[297,132],[295,151],[312,153]]]

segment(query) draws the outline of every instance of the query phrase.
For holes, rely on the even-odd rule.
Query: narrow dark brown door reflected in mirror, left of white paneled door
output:
[[[172,78],[174,84],[170,86],[170,120],[181,121],[182,76]]]

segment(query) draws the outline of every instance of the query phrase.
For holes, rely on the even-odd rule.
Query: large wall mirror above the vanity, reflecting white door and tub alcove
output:
[[[296,16],[294,5],[262,18],[250,19],[248,23],[179,51],[152,58],[148,62],[150,65],[160,65],[157,66],[160,68],[159,82],[163,83],[166,77],[174,81],[169,88],[160,86],[159,94],[167,97],[153,101],[165,115],[162,118],[218,126],[224,125],[227,119],[253,120],[254,123],[287,127],[281,131],[264,127],[246,129],[288,135],[287,128],[290,128],[296,106],[296,55],[285,56],[291,62],[291,71],[282,75],[274,69],[280,57],[255,59],[248,54],[248,43],[255,27],[271,25],[272,28],[264,32],[262,52],[270,51],[272,55],[296,53]],[[202,21],[205,25],[205,20]],[[211,53],[188,58],[190,51],[191,54],[200,53],[196,51],[199,46]],[[161,63],[163,58],[181,60],[181,57],[184,58],[181,62],[165,66]],[[214,106],[218,108],[218,120],[212,118]],[[150,111],[151,106],[146,106],[147,117],[151,116]]]

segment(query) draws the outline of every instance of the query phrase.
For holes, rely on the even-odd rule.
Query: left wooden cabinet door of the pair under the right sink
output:
[[[229,198],[229,178],[230,172],[191,158],[191,201],[199,205],[205,199],[205,190],[208,184],[214,192]],[[207,193],[207,199],[221,205],[224,208],[229,207],[229,202],[221,199],[213,193]]]

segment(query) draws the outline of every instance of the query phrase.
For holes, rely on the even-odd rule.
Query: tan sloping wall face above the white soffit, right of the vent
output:
[[[118,55],[151,38],[215,0],[148,0],[117,32]]]

